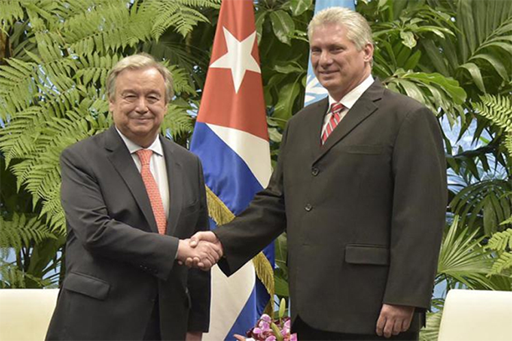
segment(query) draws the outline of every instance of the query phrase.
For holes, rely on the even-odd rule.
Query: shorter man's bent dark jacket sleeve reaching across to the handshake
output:
[[[60,157],[61,201],[71,238],[77,238],[92,255],[127,262],[167,279],[179,240],[110,218],[97,175],[81,154],[66,149]]]

